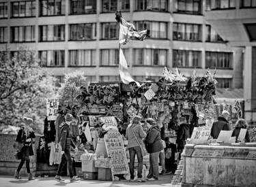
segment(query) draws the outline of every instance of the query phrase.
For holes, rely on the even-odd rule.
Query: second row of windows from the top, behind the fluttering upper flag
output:
[[[147,38],[167,39],[167,22],[134,22],[137,28],[147,29]],[[206,25],[205,41],[222,42],[223,39]],[[119,24],[104,22],[101,24],[101,39],[118,39]],[[173,23],[173,40],[201,41],[201,24]],[[65,24],[40,25],[39,41],[65,41]],[[11,42],[35,41],[35,26],[10,27]],[[7,27],[0,27],[0,43],[7,42]],[[72,41],[96,39],[96,23],[70,24],[69,39]]]

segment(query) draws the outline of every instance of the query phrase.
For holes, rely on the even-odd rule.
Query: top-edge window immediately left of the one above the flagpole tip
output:
[[[95,0],[71,0],[70,14],[96,13],[97,1]]]

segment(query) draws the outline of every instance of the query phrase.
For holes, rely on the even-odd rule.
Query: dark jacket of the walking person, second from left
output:
[[[60,139],[60,144],[62,150],[69,150],[70,146],[73,148],[76,148],[74,145],[74,142],[71,139],[71,132],[70,132],[70,126],[66,124],[66,122],[61,123],[59,126],[59,131],[61,133],[61,139]]]

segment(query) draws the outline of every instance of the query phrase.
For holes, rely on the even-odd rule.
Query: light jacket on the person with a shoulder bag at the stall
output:
[[[134,135],[137,137],[140,144],[143,143],[142,139],[147,136],[141,124],[130,124],[126,129],[126,139],[128,139],[127,148],[134,148],[140,145]]]

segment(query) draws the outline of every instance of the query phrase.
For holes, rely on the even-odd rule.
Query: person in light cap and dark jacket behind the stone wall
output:
[[[221,116],[218,117],[218,120],[212,124],[211,136],[213,139],[217,139],[221,131],[230,131],[229,122],[229,112],[223,110]]]

